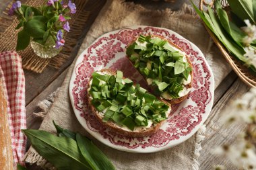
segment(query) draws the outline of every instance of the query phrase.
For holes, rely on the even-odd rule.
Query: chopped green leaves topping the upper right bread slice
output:
[[[140,35],[127,47],[127,56],[136,69],[155,86],[157,95],[166,99],[179,98],[192,71],[185,54],[161,38]]]

